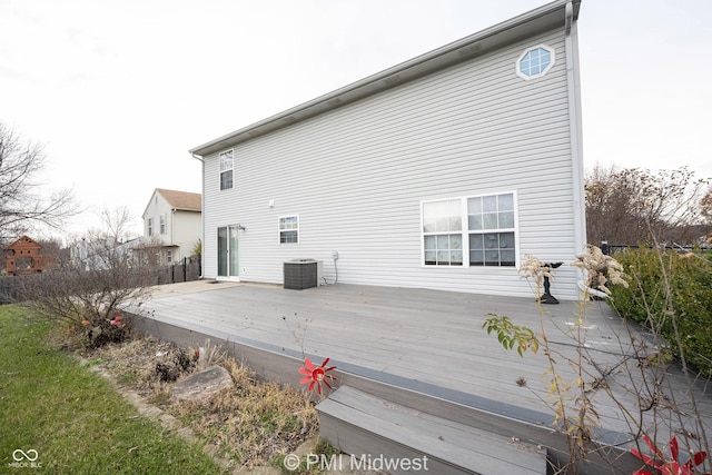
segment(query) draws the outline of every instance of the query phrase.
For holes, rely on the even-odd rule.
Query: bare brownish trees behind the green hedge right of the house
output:
[[[587,240],[690,244],[699,237],[700,200],[709,184],[686,167],[653,175],[596,166],[585,185]]]

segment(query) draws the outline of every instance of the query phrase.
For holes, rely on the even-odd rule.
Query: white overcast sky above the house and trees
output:
[[[542,0],[0,0],[0,121],[44,144],[47,188],[140,217],[200,192],[188,154]],[[712,177],[712,1],[583,0],[586,168]]]

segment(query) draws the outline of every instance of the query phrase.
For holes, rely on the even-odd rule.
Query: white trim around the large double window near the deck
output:
[[[469,230],[469,225],[467,220],[467,199],[469,198],[481,198],[485,196],[494,196],[494,195],[508,195],[511,194],[514,199],[514,228],[503,228],[503,229],[492,229],[492,232],[514,232],[514,267],[512,266],[471,266],[469,265],[469,235],[472,234]],[[426,202],[437,202],[437,201],[448,201],[448,200],[459,200],[459,209],[461,209],[461,234],[462,234],[462,243],[463,243],[463,264],[462,266],[438,266],[436,265],[426,265],[425,264],[425,235],[426,232],[423,230],[424,221],[423,221],[423,206]],[[476,231],[479,232],[479,231]],[[487,230],[483,230],[482,232],[487,232]],[[453,234],[453,232],[451,232]],[[421,201],[421,267],[423,268],[437,268],[437,269],[458,269],[458,268],[473,268],[473,269],[483,269],[486,271],[491,271],[493,269],[500,270],[517,270],[521,264],[521,246],[520,246],[520,199],[516,190],[502,190],[502,191],[491,191],[483,192],[477,195],[467,195],[459,197],[444,197],[437,199],[426,199]]]

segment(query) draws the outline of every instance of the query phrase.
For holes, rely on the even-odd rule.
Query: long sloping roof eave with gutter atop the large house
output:
[[[400,86],[432,72],[457,65],[488,51],[513,43],[527,36],[565,24],[566,3],[573,3],[574,20],[578,17],[581,0],[556,0],[518,17],[503,21],[438,49],[415,57],[359,81],[319,96],[291,109],[268,117],[239,130],[219,137],[189,150],[205,157],[225,150],[255,137],[337,109],[368,96]]]

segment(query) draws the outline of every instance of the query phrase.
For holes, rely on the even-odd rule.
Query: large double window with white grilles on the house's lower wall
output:
[[[423,202],[426,266],[516,266],[515,194]]]

